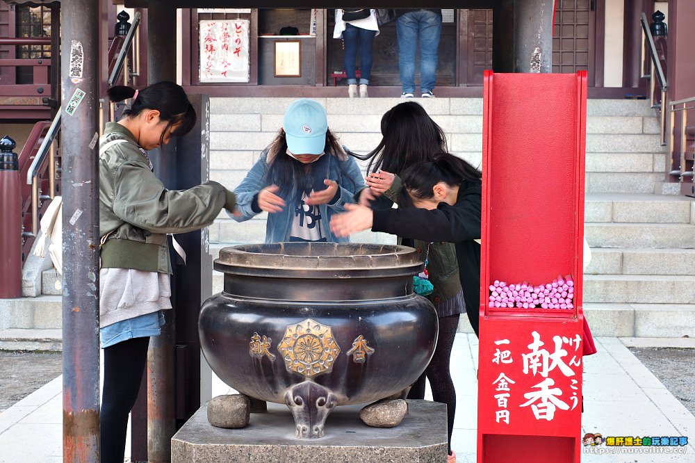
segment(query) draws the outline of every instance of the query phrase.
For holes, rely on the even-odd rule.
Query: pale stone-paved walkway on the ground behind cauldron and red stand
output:
[[[587,357],[584,364],[582,435],[600,432],[603,437],[685,436],[688,437],[688,445],[656,448],[657,451],[670,450],[671,453],[630,453],[632,449],[628,447],[607,447],[603,444],[584,448],[582,462],[695,461],[695,417],[626,347],[645,346],[645,342],[649,341],[622,338],[595,340],[598,354]],[[655,346],[664,346],[665,343],[695,347],[692,340],[660,339],[654,342]],[[458,333],[452,351],[451,373],[457,390],[452,449],[459,463],[475,462],[477,346],[473,334]],[[61,377],[57,377],[0,413],[1,463],[63,461],[61,388]],[[228,391],[229,388],[223,383],[213,382],[213,396]],[[685,450],[685,453],[674,453],[675,449],[681,452]]]

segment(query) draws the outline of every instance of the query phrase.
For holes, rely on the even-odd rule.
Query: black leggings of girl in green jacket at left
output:
[[[123,463],[128,415],[135,405],[147,366],[149,337],[133,338],[104,349],[101,393],[101,463]]]

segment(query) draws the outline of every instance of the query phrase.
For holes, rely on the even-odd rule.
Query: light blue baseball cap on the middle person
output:
[[[321,154],[328,131],[326,109],[311,99],[297,99],[287,107],[282,129],[293,154]]]

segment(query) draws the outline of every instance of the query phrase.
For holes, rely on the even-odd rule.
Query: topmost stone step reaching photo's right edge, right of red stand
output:
[[[692,223],[695,202],[680,195],[587,193],[584,222]]]

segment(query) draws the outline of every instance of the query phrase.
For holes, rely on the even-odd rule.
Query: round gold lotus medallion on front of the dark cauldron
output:
[[[331,371],[341,352],[333,339],[331,327],[321,325],[311,318],[296,325],[288,325],[277,350],[285,360],[288,371],[306,377]]]

